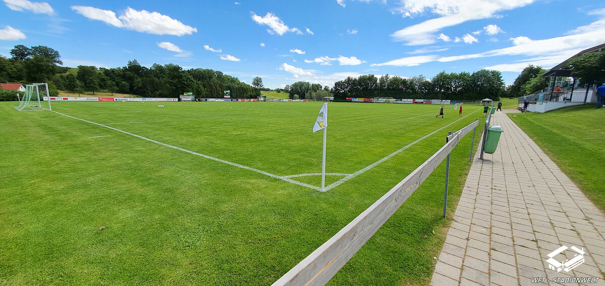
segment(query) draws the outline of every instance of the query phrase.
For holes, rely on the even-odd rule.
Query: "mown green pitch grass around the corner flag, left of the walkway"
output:
[[[447,131],[481,116],[318,192],[57,113],[17,112],[14,104],[0,103],[0,285],[272,284],[428,159]],[[52,106],[281,176],[321,168],[322,135],[311,130],[322,103],[161,104]],[[459,119],[437,112],[427,104],[330,103],[326,171],[353,173]],[[115,124],[125,122],[139,123]],[[449,217],[470,141],[452,153]],[[450,224],[441,217],[444,174],[445,163],[329,285],[428,285]]]

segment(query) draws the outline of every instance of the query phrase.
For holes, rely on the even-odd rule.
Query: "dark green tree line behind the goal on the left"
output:
[[[223,97],[230,91],[233,98],[257,98],[260,89],[238,78],[212,69],[183,70],[178,65],[155,63],[151,68],[130,60],[121,68],[77,66],[76,74],[64,68],[58,51],[47,46],[16,45],[11,58],[0,56],[0,82],[48,83],[51,95],[58,89],[77,92],[119,92],[139,97],[177,97],[192,92],[195,97]]]

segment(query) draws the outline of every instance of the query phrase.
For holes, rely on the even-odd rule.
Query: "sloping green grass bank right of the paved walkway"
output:
[[[512,115],[517,115],[512,118]],[[605,129],[603,109],[594,104],[509,117],[605,212]]]

